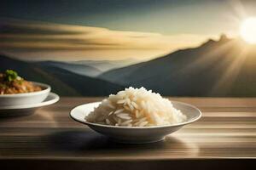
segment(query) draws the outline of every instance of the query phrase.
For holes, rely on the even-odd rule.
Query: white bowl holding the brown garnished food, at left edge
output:
[[[32,82],[40,86],[43,90],[38,92],[24,93],[24,94],[3,94],[0,95],[0,106],[6,105],[31,105],[37,104],[49,95],[50,86],[40,82]]]

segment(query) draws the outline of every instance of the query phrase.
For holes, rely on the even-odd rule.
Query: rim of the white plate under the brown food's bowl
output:
[[[0,106],[0,111],[4,111],[4,110],[20,110],[20,109],[32,109],[32,108],[38,108],[38,107],[42,107],[45,105],[52,105],[55,104],[57,101],[60,100],[60,96],[58,94],[52,93],[50,92],[48,94],[48,96],[46,97],[46,99],[49,96],[53,96],[53,99],[49,99],[46,100],[44,99],[43,102],[40,103],[36,103],[36,104],[31,104],[31,105],[6,105],[6,106]]]

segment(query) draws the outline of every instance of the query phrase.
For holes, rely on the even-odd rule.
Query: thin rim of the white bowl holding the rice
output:
[[[170,99],[169,99],[170,100]],[[195,118],[189,120],[189,121],[186,121],[186,122],[179,122],[179,123],[175,123],[175,124],[171,124],[171,125],[160,125],[160,126],[151,126],[151,127],[121,127],[121,126],[113,126],[113,125],[104,125],[104,124],[99,124],[99,123],[93,123],[93,122],[87,122],[85,119],[84,119],[84,122],[79,120],[79,119],[76,119],[75,117],[72,116],[73,114],[73,111],[76,110],[79,106],[81,105],[78,105],[76,106],[75,108],[72,109],[72,111],[70,111],[69,113],[69,116],[76,122],[80,122],[80,123],[83,123],[83,124],[86,124],[88,126],[94,126],[94,127],[108,127],[108,128],[121,128],[121,129],[152,129],[152,128],[165,128],[165,127],[179,127],[179,126],[184,126],[184,125],[187,125],[189,123],[192,123],[192,122],[196,122],[198,121],[200,118],[201,118],[201,111],[195,107],[195,105],[190,105],[190,104],[187,104],[187,103],[183,103],[183,102],[180,102],[180,101],[175,101],[175,100],[170,100],[172,103],[178,103],[178,104],[181,104],[181,105],[187,105],[189,107],[192,107],[193,109],[195,109],[196,111],[198,111],[199,115],[196,116]],[[84,104],[84,105],[89,105],[89,104],[100,104],[101,102],[91,102],[91,103],[87,103],[87,104]]]

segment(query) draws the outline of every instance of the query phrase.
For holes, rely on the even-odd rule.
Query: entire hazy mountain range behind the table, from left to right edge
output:
[[[132,62],[27,62],[2,54],[0,71],[13,69],[28,80],[49,83],[61,95],[102,96],[143,86],[172,96],[256,96],[256,46],[238,39],[222,36],[198,48]]]

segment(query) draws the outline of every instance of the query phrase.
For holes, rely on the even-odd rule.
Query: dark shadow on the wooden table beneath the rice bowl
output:
[[[67,151],[90,151],[90,150],[164,150],[166,148],[173,150],[189,150],[197,154],[198,147],[194,144],[178,139],[171,135],[166,139],[151,144],[119,144],[92,131],[67,131],[60,133],[51,133],[49,136],[50,147],[55,150]],[[191,150],[192,148],[192,150]],[[194,149],[193,149],[194,148]]]

